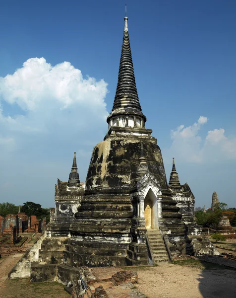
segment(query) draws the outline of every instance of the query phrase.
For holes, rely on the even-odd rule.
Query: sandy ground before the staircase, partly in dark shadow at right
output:
[[[201,269],[167,263],[135,271],[137,288],[148,298],[236,298],[236,270],[224,266]]]

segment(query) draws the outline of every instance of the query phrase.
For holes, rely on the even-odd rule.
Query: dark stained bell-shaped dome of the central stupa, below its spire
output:
[[[167,189],[166,174],[159,146],[155,138],[143,138],[143,147],[150,172]],[[140,139],[125,136],[109,137],[93,150],[88,174],[87,189],[130,187],[139,165]]]

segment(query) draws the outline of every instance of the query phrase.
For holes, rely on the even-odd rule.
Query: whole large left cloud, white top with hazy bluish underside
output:
[[[86,133],[90,137],[96,135],[95,128],[104,128],[107,92],[103,79],[83,77],[69,62],[52,66],[44,58],[28,59],[14,74],[0,77],[0,100],[22,110],[5,116],[0,103],[0,140],[13,139],[23,148],[30,134],[43,134],[53,142],[61,135],[75,138],[77,132],[82,142]]]

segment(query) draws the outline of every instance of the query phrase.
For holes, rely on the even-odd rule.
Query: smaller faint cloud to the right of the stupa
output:
[[[200,116],[198,121],[184,128],[180,125],[171,131],[172,146],[166,152],[167,160],[171,156],[181,162],[222,162],[226,159],[236,159],[236,137],[228,138],[225,130],[208,131],[205,138],[200,136],[200,130],[208,118]]]

